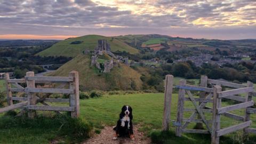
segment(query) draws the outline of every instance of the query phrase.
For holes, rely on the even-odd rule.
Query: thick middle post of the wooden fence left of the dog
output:
[[[35,76],[34,71],[28,71],[26,73],[26,76]],[[35,81],[34,80],[27,80],[27,87],[28,88],[36,88],[35,86]],[[36,105],[36,95],[31,92],[26,92],[27,98],[28,98],[28,105]],[[28,110],[28,117],[29,118],[34,118],[36,116],[36,110]]]

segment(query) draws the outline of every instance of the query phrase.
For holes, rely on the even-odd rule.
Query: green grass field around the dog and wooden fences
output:
[[[145,131],[147,134],[151,132],[159,131],[162,127],[163,117],[163,93],[145,93],[145,94],[127,94],[127,95],[104,95],[102,98],[86,99],[80,101],[81,118],[93,123],[94,127],[102,127],[103,125],[113,126],[116,124],[118,115],[123,105],[130,105],[133,108],[133,123],[140,125],[140,130]],[[177,110],[178,94],[173,94],[172,107],[171,107],[171,119],[175,119]],[[226,106],[228,103],[223,102],[222,106]],[[185,107],[191,107],[191,102],[185,102]],[[210,105],[209,105],[210,106]],[[235,114],[243,115],[244,110],[233,111]],[[189,117],[191,113],[185,113],[184,116]],[[210,119],[211,116],[207,115],[206,119]],[[252,127],[256,128],[256,115],[251,115],[253,120]],[[238,124],[233,119],[222,116],[221,127],[227,127],[232,124]],[[189,124],[189,128],[193,128],[195,124]],[[183,137],[173,137],[173,130],[175,127],[171,126],[171,135],[166,138],[166,143],[209,143],[209,135],[202,135],[198,137],[198,134],[183,134]],[[4,143],[49,143],[54,139],[58,128],[53,129],[36,129],[32,127],[23,127],[15,129],[15,127],[6,127],[6,129],[0,130],[0,140]],[[109,133],[111,134],[111,132]],[[229,134],[226,138],[221,140],[233,139],[238,137],[239,133]],[[17,139],[14,141],[13,139]],[[160,135],[157,136],[161,138]],[[202,139],[202,137],[204,139]],[[171,138],[171,139],[170,139]],[[48,141],[48,142],[47,142]],[[0,143],[1,143],[0,142]],[[225,142],[222,142],[225,143]]]

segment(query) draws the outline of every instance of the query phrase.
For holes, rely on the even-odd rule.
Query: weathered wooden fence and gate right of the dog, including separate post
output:
[[[162,130],[169,129],[170,111],[171,111],[171,97],[173,87],[173,76],[167,75],[165,80],[165,102],[164,102],[164,116]],[[209,86],[209,87],[208,87]],[[221,86],[229,87],[231,90],[221,91]],[[253,83],[247,82],[247,85],[230,83],[225,81],[217,81],[214,79],[208,79],[207,76],[201,76],[200,86],[188,85],[186,80],[180,80],[179,85],[175,86],[179,89],[177,117],[174,122],[176,126],[175,133],[178,137],[181,137],[182,133],[205,133],[211,134],[212,143],[219,143],[219,137],[221,135],[231,133],[240,129],[244,130],[244,136],[248,133],[256,133],[256,129],[250,128],[252,121],[250,121],[250,115],[256,114],[256,109],[252,108],[254,102],[252,97],[254,95]],[[199,98],[195,98],[193,92],[199,92]],[[186,97],[186,93],[188,97]],[[245,93],[245,97],[241,97],[239,94]],[[221,99],[233,100],[240,102],[235,105],[221,107]],[[194,108],[185,108],[184,102],[191,101]],[[242,103],[241,103],[242,102]],[[212,107],[207,107],[207,103],[212,103]],[[229,111],[236,109],[245,109],[244,116],[239,116]],[[193,112],[189,118],[183,118],[183,113],[186,111]],[[211,119],[206,119],[206,115]],[[238,125],[233,125],[225,129],[220,129],[220,116],[226,116],[233,118],[237,121],[242,121]],[[197,116],[197,118],[196,118]],[[168,121],[168,122],[167,122]],[[205,124],[206,130],[202,129],[186,129],[188,124],[194,122],[197,126]]]

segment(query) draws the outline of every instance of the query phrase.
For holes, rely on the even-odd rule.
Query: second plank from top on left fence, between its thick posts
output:
[[[73,94],[73,89],[45,89],[45,88],[25,88],[25,92],[31,93],[67,93]]]

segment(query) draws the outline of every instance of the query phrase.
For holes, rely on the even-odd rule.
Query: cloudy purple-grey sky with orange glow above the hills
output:
[[[0,39],[256,38],[256,0],[0,0]]]

